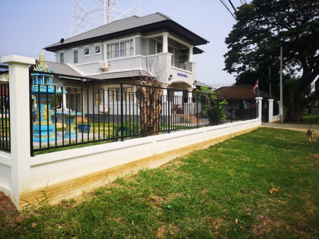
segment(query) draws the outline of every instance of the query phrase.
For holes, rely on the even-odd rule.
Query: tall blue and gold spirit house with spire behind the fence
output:
[[[47,142],[55,141],[54,126],[51,121],[51,98],[54,95],[54,86],[52,86],[51,69],[44,62],[44,54],[41,50],[40,61],[34,66],[34,71],[41,71],[43,74],[32,73],[32,95],[35,96],[37,104],[36,121],[33,127],[33,141]],[[59,87],[55,89],[56,94],[61,94]],[[63,89],[63,93],[66,91]]]

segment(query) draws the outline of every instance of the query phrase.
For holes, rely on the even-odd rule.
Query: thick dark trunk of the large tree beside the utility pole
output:
[[[289,90],[289,105],[286,113],[285,122],[301,122],[303,114],[308,106],[304,96],[300,96],[294,88]]]

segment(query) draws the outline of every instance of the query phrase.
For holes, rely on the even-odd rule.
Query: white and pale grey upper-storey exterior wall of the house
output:
[[[157,42],[162,43],[163,34],[168,34],[168,46],[173,48],[173,54],[167,53],[156,54]],[[127,57],[116,57],[107,59],[107,44],[119,42],[121,40],[134,39],[134,55]],[[167,42],[166,42],[167,43]],[[184,43],[184,44],[183,44]],[[92,76],[95,74],[101,74],[102,70],[99,69],[99,62],[108,62],[108,72],[121,72],[145,69],[146,58],[154,60],[154,71],[159,72],[160,68],[165,71],[162,75],[163,83],[171,84],[173,82],[185,82],[189,86],[192,86],[196,80],[196,63],[192,63],[192,70],[182,70],[171,66],[171,57],[178,58],[178,48],[182,49],[191,45],[191,42],[169,32],[166,30],[149,32],[143,34],[137,32],[135,34],[124,35],[115,39],[106,39],[102,41],[96,41],[92,43],[85,43],[68,48],[61,48],[56,50],[56,62],[60,62],[60,54],[64,54],[64,63],[70,65],[73,69],[78,71],[83,76]],[[100,46],[100,53],[95,54],[94,49],[96,46]],[[84,55],[84,48],[89,47],[89,56]],[[73,52],[78,51],[78,63],[74,63]],[[186,77],[178,76],[177,73],[187,75]],[[172,82],[167,82],[169,75],[173,76]]]

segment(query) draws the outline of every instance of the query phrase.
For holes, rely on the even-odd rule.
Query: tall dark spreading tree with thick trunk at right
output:
[[[238,8],[236,17],[225,40],[224,70],[241,77],[256,66],[279,64],[283,46],[285,74],[300,74],[288,90],[285,121],[301,121],[304,110],[319,99],[319,89],[306,95],[319,76],[319,0],[252,0]]]

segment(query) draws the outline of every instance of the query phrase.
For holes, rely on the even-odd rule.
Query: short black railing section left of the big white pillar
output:
[[[10,152],[10,96],[9,84],[0,85],[1,121],[0,121],[0,150]]]

